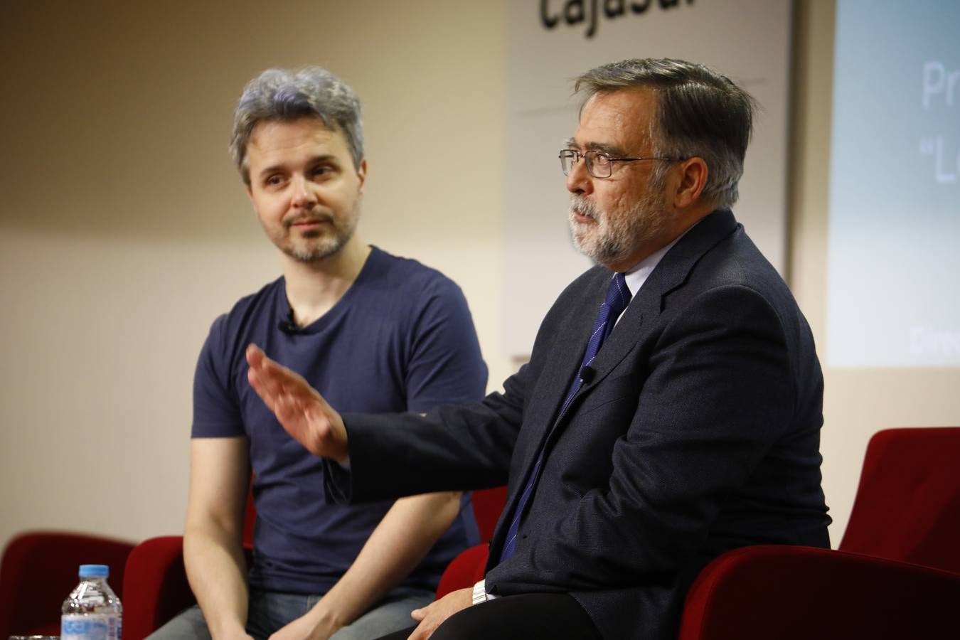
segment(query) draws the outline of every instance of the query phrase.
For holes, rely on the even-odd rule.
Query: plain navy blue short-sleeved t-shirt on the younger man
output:
[[[347,571],[392,502],[324,498],[324,462],[292,439],[247,382],[248,344],[297,371],[341,412],[426,412],[483,397],[487,366],[460,288],[419,262],[372,248],[347,293],[293,333],[284,279],[213,322],[194,380],[193,438],[247,436],[257,510],[250,583],[323,594]],[[478,541],[460,516],[401,584],[436,587],[446,564]]]

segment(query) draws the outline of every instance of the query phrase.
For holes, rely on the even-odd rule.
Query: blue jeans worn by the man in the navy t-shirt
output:
[[[247,632],[256,640],[266,640],[277,629],[286,626],[313,608],[321,596],[276,593],[252,589],[247,614]],[[414,624],[410,612],[433,602],[434,593],[425,589],[397,587],[380,602],[347,627],[330,636],[330,640],[369,640],[379,638]],[[192,606],[156,629],[150,640],[208,640],[204,614]]]

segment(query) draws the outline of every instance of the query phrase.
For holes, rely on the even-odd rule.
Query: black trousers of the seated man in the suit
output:
[[[380,640],[406,640],[416,626]],[[430,640],[601,640],[584,608],[565,593],[528,593],[474,604],[447,618]]]

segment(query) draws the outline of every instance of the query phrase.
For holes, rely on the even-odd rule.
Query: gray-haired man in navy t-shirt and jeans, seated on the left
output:
[[[201,352],[183,538],[199,608],[155,637],[350,640],[407,627],[446,563],[477,541],[468,500],[327,502],[324,461],[251,390],[244,350],[262,345],[338,407],[425,412],[484,394],[467,301],[442,273],[360,240],[360,105],[329,72],[269,70],[249,83],[230,150],[283,275],[215,320]]]

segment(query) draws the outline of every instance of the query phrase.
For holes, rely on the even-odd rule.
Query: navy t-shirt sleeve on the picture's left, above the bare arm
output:
[[[193,378],[191,438],[245,436],[240,404],[230,376],[227,316],[213,321]]]

